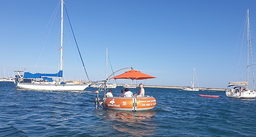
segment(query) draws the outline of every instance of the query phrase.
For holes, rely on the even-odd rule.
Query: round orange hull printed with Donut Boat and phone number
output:
[[[143,111],[155,108],[154,97],[107,97],[104,100],[104,107],[122,111]]]

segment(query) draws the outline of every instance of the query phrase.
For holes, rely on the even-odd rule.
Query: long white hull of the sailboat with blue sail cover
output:
[[[16,87],[21,89],[36,90],[62,90],[62,91],[83,91],[90,84],[33,84],[33,83],[16,83]]]

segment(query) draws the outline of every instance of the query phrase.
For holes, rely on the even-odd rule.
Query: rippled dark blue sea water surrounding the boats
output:
[[[122,88],[112,93],[118,95]],[[224,91],[144,89],[170,108],[157,104],[150,111],[95,110],[96,89],[91,87],[38,91],[0,82],[0,136],[255,136],[255,99],[226,98]]]

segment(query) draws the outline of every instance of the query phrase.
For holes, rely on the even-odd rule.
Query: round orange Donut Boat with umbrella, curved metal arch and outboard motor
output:
[[[131,67],[128,67],[128,68],[131,68]],[[127,68],[123,68],[123,69],[127,69]],[[123,70],[123,69],[120,69],[120,70]],[[120,70],[117,70],[116,72]],[[116,72],[114,72],[113,74],[115,74]],[[111,74],[109,77],[111,77],[113,74]],[[101,108],[108,108],[108,109],[122,110],[122,111],[144,111],[144,110],[151,110],[155,108],[156,100],[152,96],[106,97],[106,84],[107,84],[108,78],[105,80],[104,84],[100,86],[99,90],[94,92],[94,93],[97,93],[97,97],[94,98],[95,109],[98,109],[99,106],[101,106]],[[131,68],[130,71],[126,71],[125,73],[112,78],[143,80],[143,79],[156,78],[156,77],[141,73],[140,71],[133,70]],[[102,98],[99,98],[99,91],[104,91],[104,96]]]

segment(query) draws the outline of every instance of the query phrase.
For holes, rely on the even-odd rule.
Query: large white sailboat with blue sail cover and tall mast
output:
[[[31,74],[21,70],[13,70],[16,75],[16,87],[21,89],[37,89],[37,90],[63,90],[63,91],[80,91],[87,88],[90,84],[76,80],[65,82],[62,80],[63,73],[63,57],[62,57],[62,40],[63,40],[63,0],[61,0],[61,51],[60,53],[60,70],[56,74]],[[27,68],[26,68],[27,69]],[[24,69],[25,70],[25,69]],[[55,78],[55,79],[53,79]]]

